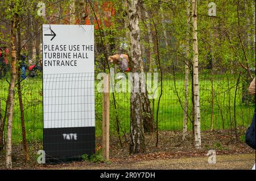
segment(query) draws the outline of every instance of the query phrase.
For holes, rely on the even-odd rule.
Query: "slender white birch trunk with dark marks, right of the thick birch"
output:
[[[199,104],[199,72],[198,72],[198,49],[197,49],[197,1],[192,0],[193,15],[193,89],[195,106],[195,147],[201,148],[200,133],[200,104]]]

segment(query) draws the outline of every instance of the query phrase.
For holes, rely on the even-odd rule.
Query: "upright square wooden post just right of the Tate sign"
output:
[[[102,155],[109,160],[109,74],[104,75],[103,87]]]

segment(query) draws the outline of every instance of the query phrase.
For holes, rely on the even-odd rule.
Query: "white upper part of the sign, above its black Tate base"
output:
[[[44,128],[94,127],[94,28],[43,24]]]

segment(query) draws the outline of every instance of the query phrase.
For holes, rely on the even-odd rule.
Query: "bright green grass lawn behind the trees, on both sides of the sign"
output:
[[[234,95],[237,79],[229,75],[229,83],[225,75],[216,75],[213,78],[213,129],[230,129],[234,127]],[[184,76],[176,75],[176,90],[181,104],[184,104]],[[212,87],[209,75],[200,75],[200,111],[201,129],[210,129],[212,115]],[[190,82],[189,82],[190,84]],[[159,129],[181,130],[183,127],[183,109],[177,98],[174,77],[166,75],[163,79],[163,95],[159,106]],[[4,99],[7,98],[8,83],[0,80],[0,98],[2,113],[5,108]],[[42,80],[28,78],[22,82],[22,95],[24,103],[24,117],[28,142],[42,140],[43,138],[43,107],[42,107]],[[159,89],[160,95],[160,89]],[[101,135],[102,120],[102,93],[96,92],[96,136]],[[130,129],[130,93],[115,93],[117,104],[117,116],[121,133],[127,133]],[[191,86],[189,86],[189,111],[191,112]],[[154,117],[156,119],[156,106],[158,99],[154,100]],[[14,103],[13,140],[18,143],[22,140],[22,128],[20,123],[18,95],[15,93]],[[152,99],[151,99],[152,105]],[[239,84],[236,97],[236,120],[238,127],[247,127],[250,124],[253,105],[242,103],[242,83]],[[117,134],[113,97],[110,94],[110,133]],[[192,124],[188,122],[188,129]]]

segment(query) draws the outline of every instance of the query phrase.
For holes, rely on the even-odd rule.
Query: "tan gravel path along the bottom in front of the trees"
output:
[[[86,163],[42,166],[39,169],[251,169],[255,154],[217,155],[216,164],[209,164],[208,157],[157,159],[137,162]]]

